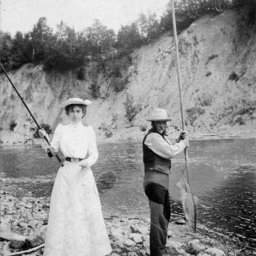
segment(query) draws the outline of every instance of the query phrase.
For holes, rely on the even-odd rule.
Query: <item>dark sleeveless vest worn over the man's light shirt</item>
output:
[[[171,160],[168,160],[161,156],[158,156],[156,153],[154,153],[151,149],[149,149],[145,145],[145,140],[151,132],[152,131],[149,130],[149,132],[146,134],[146,136],[143,139],[143,162],[145,165],[145,172],[147,170],[157,170],[159,172],[164,172],[166,174],[170,174],[171,173],[171,171],[170,171]],[[164,138],[163,138],[163,140],[164,140]]]

